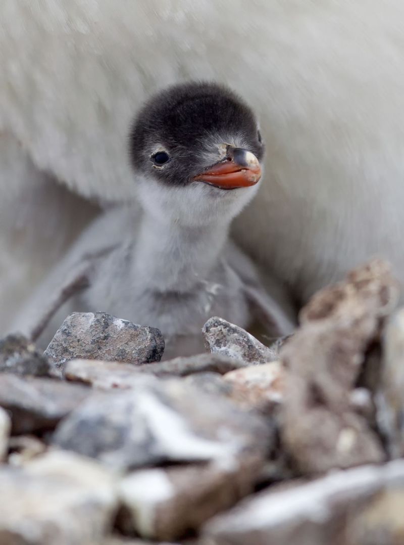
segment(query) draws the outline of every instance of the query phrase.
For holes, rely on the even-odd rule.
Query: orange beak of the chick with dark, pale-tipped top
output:
[[[192,179],[220,189],[238,189],[255,185],[260,178],[261,166],[255,155],[246,149],[230,148],[223,161]]]

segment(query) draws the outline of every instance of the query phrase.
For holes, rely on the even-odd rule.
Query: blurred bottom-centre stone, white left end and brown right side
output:
[[[256,474],[252,460],[136,471],[119,487],[125,507],[120,528],[154,540],[180,538],[252,492]]]

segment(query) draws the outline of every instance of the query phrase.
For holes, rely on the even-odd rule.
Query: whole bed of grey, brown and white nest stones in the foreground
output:
[[[0,545],[404,543],[404,310],[372,261],[267,348],[72,314],[0,341]]]

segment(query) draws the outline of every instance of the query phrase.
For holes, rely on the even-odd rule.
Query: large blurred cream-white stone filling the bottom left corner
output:
[[[117,506],[113,480],[94,461],[66,453],[0,469],[2,545],[99,543]]]

